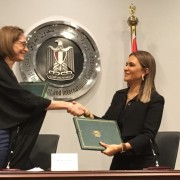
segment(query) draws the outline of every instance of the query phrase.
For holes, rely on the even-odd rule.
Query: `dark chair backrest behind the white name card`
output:
[[[30,155],[34,167],[47,170],[51,167],[51,153],[56,153],[58,134],[39,134]]]

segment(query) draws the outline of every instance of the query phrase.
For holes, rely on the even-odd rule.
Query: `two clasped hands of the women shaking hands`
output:
[[[76,101],[72,101],[70,103],[69,107],[67,108],[67,112],[73,116],[84,116],[92,119],[94,118],[94,115],[87,108]]]

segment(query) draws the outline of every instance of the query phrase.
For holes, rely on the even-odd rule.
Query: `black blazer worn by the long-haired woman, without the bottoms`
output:
[[[121,118],[119,114],[126,103],[127,92],[128,89],[123,89],[115,93],[109,109],[102,117],[103,119],[117,121],[118,118]],[[155,136],[161,124],[163,108],[164,98],[156,91],[153,92],[151,101],[148,103],[142,103],[134,98],[125,106],[120,131],[123,140],[131,144],[136,155],[146,154],[147,151],[152,154],[150,139],[155,151],[157,151]]]

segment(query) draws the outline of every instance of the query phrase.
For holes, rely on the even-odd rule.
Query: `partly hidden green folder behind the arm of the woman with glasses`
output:
[[[20,85],[24,89],[34,93],[37,96],[41,96],[41,97],[45,97],[47,87],[48,87],[47,83],[45,83],[45,82],[20,82]]]

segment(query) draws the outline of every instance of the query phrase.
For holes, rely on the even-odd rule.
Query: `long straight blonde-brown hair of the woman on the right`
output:
[[[155,75],[156,75],[156,62],[154,57],[147,51],[136,51],[129,55],[135,56],[139,61],[142,68],[148,68],[149,73],[144,76],[141,82],[140,92],[138,99],[141,102],[147,103],[151,100],[151,94],[156,91],[155,88]]]

